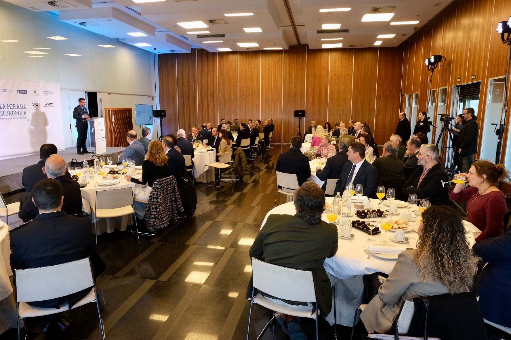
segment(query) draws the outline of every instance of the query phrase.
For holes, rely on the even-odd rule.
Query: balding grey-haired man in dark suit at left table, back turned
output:
[[[58,154],[52,154],[44,163],[42,171],[48,178],[54,178],[60,182],[64,192],[62,210],[68,215],[82,215],[82,193],[80,191],[80,185],[76,180],[65,176],[66,163],[64,159]],[[31,193],[30,199],[23,204],[19,210],[18,216],[23,222],[32,221],[36,215],[39,214],[32,197],[33,194]]]

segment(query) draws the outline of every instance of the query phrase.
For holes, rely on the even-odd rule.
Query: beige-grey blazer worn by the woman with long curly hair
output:
[[[412,249],[399,254],[396,265],[387,281],[380,286],[378,295],[362,311],[360,319],[367,332],[389,332],[401,304],[406,299],[449,293],[442,282],[422,281],[414,258],[416,252],[416,249]]]

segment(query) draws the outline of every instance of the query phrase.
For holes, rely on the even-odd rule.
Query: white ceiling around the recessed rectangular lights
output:
[[[135,3],[132,0],[60,0],[65,8],[55,8],[48,1],[6,0],[32,11],[59,10],[60,20],[110,38],[133,44],[146,42],[151,46],[140,47],[154,53],[186,53],[192,47],[209,51],[217,48],[247,50],[237,43],[255,42],[259,47],[282,47],[308,44],[321,48],[323,43],[342,43],[373,47],[381,40],[380,47],[398,46],[413,32],[426,24],[453,0],[394,0],[377,2],[369,0],[165,0],[154,3]],[[374,7],[395,6],[389,21],[362,22],[364,14]],[[90,8],[91,7],[91,8]],[[342,12],[319,12],[327,8],[351,8]],[[226,17],[226,13],[253,13],[251,16]],[[223,19],[226,24],[211,24],[208,20]],[[78,22],[91,21],[98,25],[84,27]],[[184,29],[177,22],[203,21],[207,28]],[[392,21],[419,21],[410,25],[391,25]],[[324,23],[341,24],[349,33],[322,33]],[[262,32],[246,33],[243,28],[259,27]],[[200,38],[187,32],[209,31],[223,37]],[[147,37],[132,38],[127,32],[143,32]],[[379,34],[395,34],[393,38],[377,39]],[[321,39],[342,40],[321,41]],[[221,43],[204,41],[221,40]]]

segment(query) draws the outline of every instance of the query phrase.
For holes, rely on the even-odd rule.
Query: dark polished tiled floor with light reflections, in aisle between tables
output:
[[[251,165],[243,181],[218,190],[197,185],[195,216],[179,221],[140,244],[127,232],[103,234],[98,251],[107,269],[97,282],[107,339],[227,340],[246,338],[251,275],[248,249],[273,208],[278,154],[275,145]],[[234,194],[233,194],[234,192]],[[277,197],[277,205],[286,202]],[[62,339],[100,339],[95,304],[68,313],[73,319]],[[254,305],[250,338],[255,339],[271,311]],[[28,338],[47,339],[42,318],[28,319]],[[309,339],[315,322],[304,320]],[[320,339],[333,339],[333,327],[320,322]],[[12,330],[11,330],[12,331]],[[0,338],[17,338],[9,332]],[[264,339],[288,339],[276,324]],[[351,328],[338,327],[339,339]],[[12,336],[12,337],[11,337]]]

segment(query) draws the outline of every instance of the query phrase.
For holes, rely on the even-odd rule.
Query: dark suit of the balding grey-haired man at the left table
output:
[[[80,191],[80,185],[78,182],[71,178],[67,178],[66,176],[55,177],[55,179],[58,180],[62,186],[64,196],[62,211],[69,215],[81,215],[82,193]],[[21,206],[18,216],[23,222],[27,222],[33,219],[37,214],[39,214],[39,209],[32,201],[32,196],[30,196],[28,201]]]

